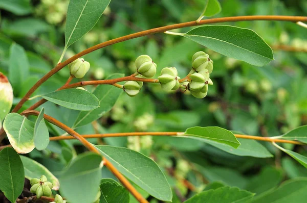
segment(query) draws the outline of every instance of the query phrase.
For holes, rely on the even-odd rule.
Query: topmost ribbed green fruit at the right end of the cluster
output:
[[[213,70],[213,61],[204,52],[196,52],[192,57],[192,67],[196,71],[201,71],[202,69],[208,69],[209,73]]]

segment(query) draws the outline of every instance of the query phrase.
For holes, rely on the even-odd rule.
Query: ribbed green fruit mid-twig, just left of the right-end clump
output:
[[[161,75],[158,77],[159,82],[163,90],[177,90],[180,86],[177,69],[163,68]]]

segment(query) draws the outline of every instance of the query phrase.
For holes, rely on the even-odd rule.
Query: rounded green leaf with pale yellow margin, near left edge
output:
[[[34,123],[27,117],[10,113],[4,119],[3,129],[17,153],[27,154],[34,149]]]

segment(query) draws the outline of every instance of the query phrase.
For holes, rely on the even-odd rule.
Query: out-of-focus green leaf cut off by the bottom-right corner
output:
[[[253,203],[298,203],[307,198],[307,179],[292,179],[284,182],[279,188],[254,198]]]

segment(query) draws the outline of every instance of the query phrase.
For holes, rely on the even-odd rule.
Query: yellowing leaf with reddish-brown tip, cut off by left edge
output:
[[[7,77],[0,72],[0,128],[5,116],[10,112],[13,104],[13,88]]]

